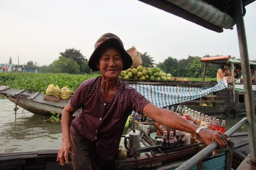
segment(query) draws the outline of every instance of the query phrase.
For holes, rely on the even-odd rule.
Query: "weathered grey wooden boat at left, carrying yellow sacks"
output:
[[[0,86],[0,94],[6,96],[7,99],[23,109],[42,116],[52,116],[51,112],[62,113],[62,110],[68,103],[66,99],[46,97],[46,95],[40,93],[24,89],[12,89],[8,86]],[[74,116],[78,115],[79,112],[80,110],[76,111]]]

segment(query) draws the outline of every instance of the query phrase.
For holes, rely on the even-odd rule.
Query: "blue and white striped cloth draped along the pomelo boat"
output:
[[[198,99],[208,95],[209,93],[226,89],[228,83],[226,79],[222,79],[214,87],[205,89],[202,87],[183,87],[183,86],[168,86],[168,85],[142,85],[129,84],[136,89],[149,101],[158,107],[166,107],[177,103]]]

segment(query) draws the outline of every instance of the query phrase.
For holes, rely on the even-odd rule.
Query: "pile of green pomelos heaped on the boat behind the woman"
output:
[[[172,75],[165,73],[159,67],[142,67],[138,65],[137,68],[127,69],[120,73],[121,79],[141,79],[141,80],[171,80]]]

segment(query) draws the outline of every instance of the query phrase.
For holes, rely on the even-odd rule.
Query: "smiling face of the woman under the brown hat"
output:
[[[97,67],[106,80],[118,79],[123,68],[120,52],[115,48],[107,48],[100,56]]]

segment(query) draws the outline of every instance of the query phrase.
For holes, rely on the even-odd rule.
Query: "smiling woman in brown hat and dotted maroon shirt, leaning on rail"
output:
[[[102,76],[84,81],[63,109],[62,146],[57,158],[61,165],[68,162],[70,151],[75,170],[110,169],[132,110],[174,129],[193,133],[198,130],[206,144],[216,140],[221,147],[226,146],[225,134],[199,128],[172,111],[156,107],[119,80],[118,75],[132,65],[132,59],[118,36],[106,33],[94,48],[88,65],[94,71],[100,70]],[[72,114],[80,107],[82,112],[71,122]]]

